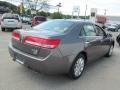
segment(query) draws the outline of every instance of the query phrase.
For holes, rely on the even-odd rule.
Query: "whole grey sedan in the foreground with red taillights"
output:
[[[114,40],[101,27],[85,21],[50,20],[12,33],[13,60],[46,74],[79,78],[88,61],[111,56]]]

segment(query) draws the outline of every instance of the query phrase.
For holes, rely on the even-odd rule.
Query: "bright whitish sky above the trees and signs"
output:
[[[10,1],[15,5],[19,5],[21,2],[21,0],[2,1]],[[99,15],[103,15],[104,9],[106,9],[107,15],[120,16],[120,0],[50,0],[49,3],[56,6],[59,2],[62,3],[60,11],[64,14],[71,14],[74,6],[80,6],[80,15],[84,15],[85,5],[87,4],[87,15],[90,14],[91,8],[97,8]]]

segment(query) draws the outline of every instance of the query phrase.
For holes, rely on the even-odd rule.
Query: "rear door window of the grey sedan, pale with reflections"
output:
[[[96,36],[96,32],[93,25],[84,25],[83,29],[85,31],[86,36]]]

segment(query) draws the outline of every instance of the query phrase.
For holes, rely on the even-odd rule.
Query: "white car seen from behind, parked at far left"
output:
[[[6,13],[3,14],[1,18],[1,30],[5,31],[5,29],[20,29],[22,28],[22,21],[18,14]]]

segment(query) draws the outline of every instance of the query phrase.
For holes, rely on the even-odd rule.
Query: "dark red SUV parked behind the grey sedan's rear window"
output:
[[[44,16],[34,16],[32,19],[32,26],[38,25],[40,23],[43,23],[47,20]]]

